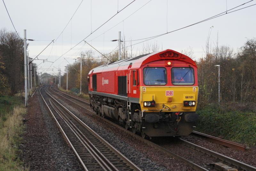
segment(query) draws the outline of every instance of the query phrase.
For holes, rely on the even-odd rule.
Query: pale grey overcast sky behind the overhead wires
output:
[[[136,0],[122,12],[118,13],[107,24],[90,35],[86,40],[99,51],[108,53],[117,46],[117,42],[110,42],[110,40],[118,38],[118,31],[121,31],[122,36],[124,35],[126,40],[140,39],[166,33],[167,29],[168,31],[172,31],[193,24],[226,10],[226,0],[149,1],[150,0]],[[53,40],[60,35],[81,0],[5,0],[4,2],[21,38],[24,36],[23,30],[27,29],[27,38],[29,39]],[[89,35],[91,33],[91,28],[92,31],[94,31],[113,16],[117,10],[121,10],[130,2],[132,2],[132,0],[92,0],[91,26],[91,1],[84,0],[72,19],[72,27],[70,22],[58,40],[54,41],[55,43],[53,46],[51,44],[39,58],[48,58],[49,61],[55,61],[63,53],[70,50],[71,47]],[[146,4],[147,2],[149,3]],[[230,9],[245,2],[247,1],[227,0],[227,8]],[[255,3],[256,1],[252,1],[240,8]],[[0,4],[0,28],[14,31],[3,2]],[[144,4],[146,5],[143,8],[135,12]],[[133,12],[135,13],[132,16],[125,19]],[[160,48],[163,47],[163,49],[172,49],[175,51],[181,51],[191,47],[195,52],[196,58],[200,58],[204,54],[203,47],[205,46],[209,29],[213,26],[211,32],[212,46],[214,46],[213,43],[216,43],[217,32],[219,32],[219,44],[228,45],[236,51],[237,48],[243,45],[247,38],[250,39],[256,37],[255,14],[256,5],[163,35],[145,43],[150,44],[157,42]],[[115,26],[119,22],[121,22],[119,25],[106,32],[109,28]],[[101,35],[104,32],[106,33]],[[94,39],[97,36],[99,37]],[[92,39],[93,41],[90,42]],[[103,40],[105,40],[105,42],[103,42]],[[50,41],[30,41],[28,46],[29,56],[35,57],[49,43]],[[136,53],[137,50],[139,51],[142,46],[143,43],[132,46],[133,53]],[[88,45],[84,45],[82,42],[64,55],[64,57],[70,63],[73,63],[74,60],[72,58],[79,55],[81,50],[85,51],[88,49],[91,48]],[[94,54],[100,56],[96,51]],[[41,61],[35,62],[36,64],[41,63]],[[57,68],[60,66],[60,68],[64,70],[64,66],[66,66],[67,63],[68,62],[61,57],[51,68],[53,68],[53,66]],[[46,62],[39,67],[42,66],[43,68],[48,68],[51,64],[52,63]],[[57,69],[54,68],[54,71],[57,72]],[[48,73],[51,73],[51,71],[48,71]]]

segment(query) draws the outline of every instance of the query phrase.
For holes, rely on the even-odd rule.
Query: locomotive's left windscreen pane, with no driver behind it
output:
[[[145,85],[165,85],[167,83],[166,69],[164,67],[145,67],[143,81]]]

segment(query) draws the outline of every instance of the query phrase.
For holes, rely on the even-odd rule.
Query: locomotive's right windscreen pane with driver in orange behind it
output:
[[[191,67],[173,67],[171,69],[173,85],[193,85],[194,69]]]

